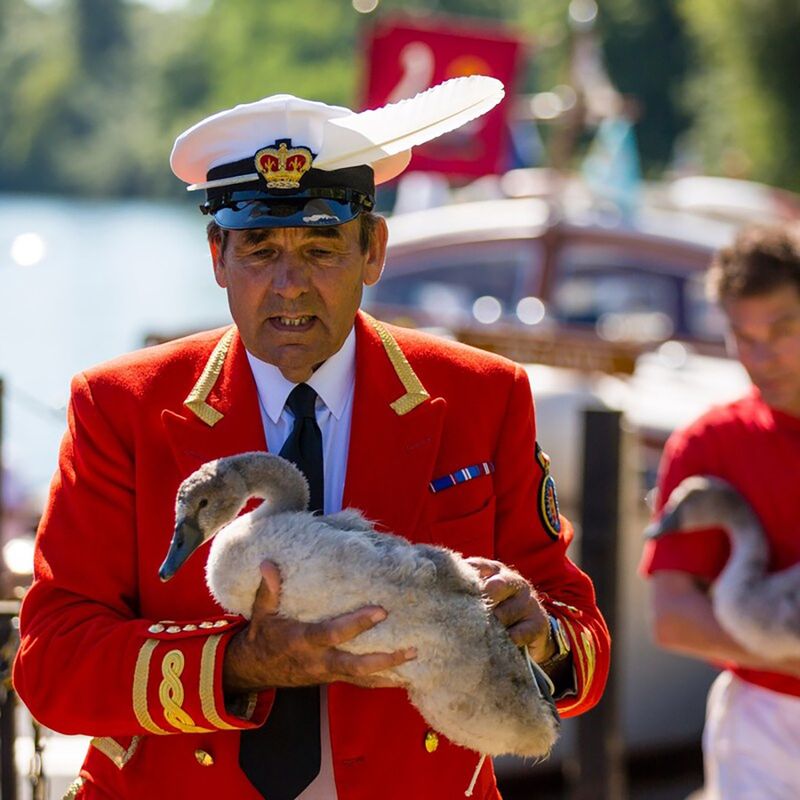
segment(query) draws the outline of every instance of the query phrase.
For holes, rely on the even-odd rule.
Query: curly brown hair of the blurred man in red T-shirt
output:
[[[744,228],[711,261],[706,286],[716,301],[794,286],[800,293],[800,223]]]

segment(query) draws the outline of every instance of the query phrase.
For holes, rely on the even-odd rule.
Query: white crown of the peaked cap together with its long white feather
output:
[[[274,95],[221,111],[193,125],[176,140],[172,170],[189,189],[235,185],[258,179],[253,170],[222,181],[208,181],[208,171],[254,156],[279,139],[308,147],[313,166],[337,170],[366,165],[375,183],[399,175],[411,160],[411,148],[476,119],[503,99],[496,78],[452,78],[415,97],[378,109],[354,113],[292,95]]]

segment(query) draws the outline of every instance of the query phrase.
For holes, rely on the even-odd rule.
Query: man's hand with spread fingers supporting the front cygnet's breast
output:
[[[226,692],[252,692],[276,686],[310,686],[347,681],[359,686],[396,686],[375,673],[416,658],[416,650],[355,655],[338,646],[355,639],[386,618],[379,606],[306,623],[278,614],[281,577],[271,561],[261,565],[261,586],[250,624],[237,633],[225,652]]]

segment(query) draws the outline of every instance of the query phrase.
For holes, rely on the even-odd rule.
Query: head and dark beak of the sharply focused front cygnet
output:
[[[175,532],[158,571],[161,580],[168,581],[204,541],[230,522],[248,494],[233,459],[209,461],[193,472],[178,489]]]

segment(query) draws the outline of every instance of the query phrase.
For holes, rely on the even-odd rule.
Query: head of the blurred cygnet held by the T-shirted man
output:
[[[729,528],[752,516],[744,498],[727,481],[709,475],[693,475],[669,496],[658,522],[644,535],[655,539],[665,533],[702,528]]]

